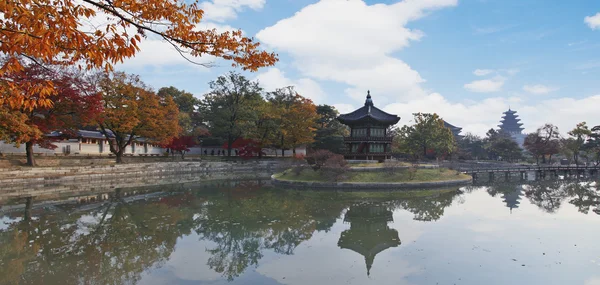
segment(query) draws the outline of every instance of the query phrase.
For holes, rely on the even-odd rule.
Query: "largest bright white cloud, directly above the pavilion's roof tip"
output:
[[[269,48],[289,53],[304,76],[345,83],[346,95],[364,100],[367,90],[379,102],[426,93],[419,73],[392,53],[423,33],[406,27],[434,9],[457,0],[405,0],[367,5],[362,0],[322,0],[257,33]]]

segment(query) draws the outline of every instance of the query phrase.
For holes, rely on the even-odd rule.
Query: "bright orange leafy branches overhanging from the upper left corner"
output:
[[[219,33],[199,29],[204,11],[198,3],[167,0],[14,0],[1,1],[0,105],[33,109],[49,107],[55,93],[50,80],[11,80],[30,62],[78,65],[111,70],[134,56],[143,40],[169,43],[188,61],[212,56],[256,71],[277,61],[241,30]],[[203,65],[210,66],[210,63]],[[36,96],[31,97],[31,90]]]

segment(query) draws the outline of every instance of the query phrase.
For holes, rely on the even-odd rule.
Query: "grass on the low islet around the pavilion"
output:
[[[347,179],[342,182],[433,182],[468,179],[469,175],[456,174],[456,171],[439,168],[439,169],[417,169],[414,177],[411,179],[409,169],[398,169],[394,173],[387,171],[381,172],[348,172]],[[290,181],[307,181],[307,182],[328,182],[326,176],[321,175],[318,171],[312,169],[304,169],[298,175],[293,171],[286,170],[283,173],[278,173],[275,178]]]

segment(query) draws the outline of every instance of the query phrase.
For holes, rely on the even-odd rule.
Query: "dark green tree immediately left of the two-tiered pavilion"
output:
[[[339,112],[333,106],[319,105],[317,114],[319,119],[312,148],[341,153],[344,148],[344,135],[348,134],[348,129],[337,120]]]

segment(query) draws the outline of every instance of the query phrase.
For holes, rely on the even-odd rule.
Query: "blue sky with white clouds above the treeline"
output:
[[[201,98],[231,70],[265,91],[293,85],[341,113],[364,104],[412,124],[435,112],[463,133],[484,135],[511,108],[525,132],[553,123],[600,125],[600,1],[597,0],[208,0],[204,27],[241,29],[276,52],[257,72],[204,58],[193,65],[148,39],[117,66],[159,89]]]

